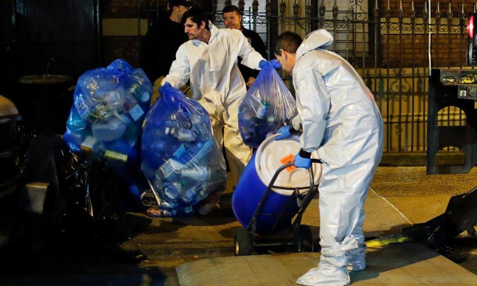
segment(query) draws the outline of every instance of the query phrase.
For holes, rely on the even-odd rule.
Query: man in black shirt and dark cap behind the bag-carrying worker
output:
[[[142,68],[152,82],[169,73],[177,49],[189,40],[180,20],[191,6],[191,0],[169,0],[168,15],[148,28],[139,56]]]

